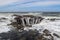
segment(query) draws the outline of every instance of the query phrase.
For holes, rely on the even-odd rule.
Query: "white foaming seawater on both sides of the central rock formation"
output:
[[[13,14],[0,14],[0,18],[5,17],[7,18],[6,20],[0,20],[0,33],[3,32],[8,32],[10,30],[13,29],[12,26],[9,26],[7,24],[10,24],[10,20],[13,20],[14,17],[12,17],[11,15]],[[42,16],[43,17],[43,16]],[[37,29],[38,31],[42,32],[44,29],[48,29],[49,31],[51,31],[51,33],[56,33],[60,36],[60,20],[55,20],[55,21],[50,21],[50,20],[46,20],[48,18],[54,18],[54,17],[44,17],[45,19],[39,23],[39,24],[34,24],[32,25],[32,27],[28,28],[25,27],[24,30],[29,30],[29,29]],[[60,18],[60,17],[55,17],[55,18]],[[60,38],[54,37],[54,40],[60,40]]]

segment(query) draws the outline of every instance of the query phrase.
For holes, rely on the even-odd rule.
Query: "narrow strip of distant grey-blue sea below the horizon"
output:
[[[60,17],[60,12],[40,12],[40,13],[24,13],[24,12],[22,12],[22,13],[9,13],[9,12],[3,12],[3,13],[0,13],[0,15],[10,15],[10,14],[18,14],[18,15],[23,15],[23,14],[32,14],[32,15],[39,15],[39,16],[52,16],[52,17]]]

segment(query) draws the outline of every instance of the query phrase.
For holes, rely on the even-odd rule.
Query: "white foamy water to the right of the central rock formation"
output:
[[[41,23],[34,24],[30,28],[25,27],[25,30],[29,30],[29,29],[32,30],[37,29],[40,31],[40,33],[44,29],[48,29],[50,32],[57,33],[60,36],[60,20],[56,20],[56,21],[43,20]],[[60,40],[60,38],[54,37],[54,40]]]

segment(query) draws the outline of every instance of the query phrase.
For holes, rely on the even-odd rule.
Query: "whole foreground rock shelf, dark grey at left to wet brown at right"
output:
[[[23,30],[19,31],[10,31],[8,33],[1,33],[0,40],[54,40],[54,37],[49,32],[39,33],[37,30]]]

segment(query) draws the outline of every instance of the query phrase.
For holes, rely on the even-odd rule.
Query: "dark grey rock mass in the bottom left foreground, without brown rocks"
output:
[[[22,32],[18,31],[10,31],[7,33],[0,33],[0,39],[1,40],[34,40],[35,36],[37,36],[38,32],[37,31],[25,31],[23,30]]]

